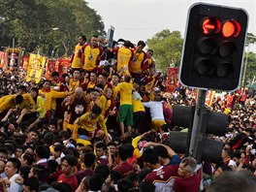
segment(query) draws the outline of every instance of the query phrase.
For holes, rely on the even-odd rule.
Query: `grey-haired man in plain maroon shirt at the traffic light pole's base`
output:
[[[192,157],[186,157],[181,160],[177,170],[178,176],[174,182],[175,192],[200,191],[200,177],[194,173],[196,167],[197,162]]]

